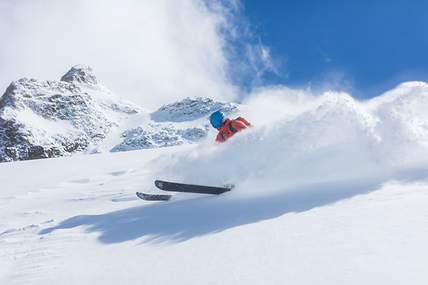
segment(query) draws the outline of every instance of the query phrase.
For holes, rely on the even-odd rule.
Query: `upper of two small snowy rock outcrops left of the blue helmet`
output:
[[[214,101],[211,98],[186,98],[182,101],[162,106],[151,114],[156,122],[185,122],[208,116],[214,111],[221,110],[226,114],[238,110],[234,103]]]

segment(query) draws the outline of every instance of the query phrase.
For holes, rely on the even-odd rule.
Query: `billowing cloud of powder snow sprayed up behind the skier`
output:
[[[423,82],[404,83],[368,101],[336,92],[260,90],[242,106],[251,130],[226,144],[204,143],[166,157],[172,163],[157,175],[235,183],[246,192],[398,178],[427,164],[427,108]]]

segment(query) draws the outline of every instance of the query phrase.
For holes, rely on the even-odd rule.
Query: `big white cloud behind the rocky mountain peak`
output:
[[[3,0],[0,88],[85,64],[119,96],[149,108],[187,96],[232,99],[239,59],[228,54],[240,37],[239,9],[239,1],[220,0]],[[261,62],[249,69],[270,64],[262,45],[246,48],[244,56],[260,57],[249,63]]]

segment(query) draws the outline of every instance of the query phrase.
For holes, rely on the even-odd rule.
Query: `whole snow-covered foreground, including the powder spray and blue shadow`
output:
[[[426,284],[427,98],[260,90],[226,144],[0,164],[0,283]]]

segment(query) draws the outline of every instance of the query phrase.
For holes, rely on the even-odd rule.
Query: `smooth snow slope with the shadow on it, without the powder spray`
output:
[[[428,281],[426,180],[135,198],[152,191],[153,159],[186,151],[1,164],[0,283]]]

